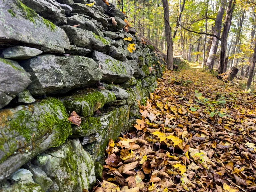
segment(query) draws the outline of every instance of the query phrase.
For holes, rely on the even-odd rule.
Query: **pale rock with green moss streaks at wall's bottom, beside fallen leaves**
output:
[[[57,148],[38,155],[32,162],[51,178],[48,192],[82,191],[95,182],[94,162],[80,144],[79,139],[68,140]]]

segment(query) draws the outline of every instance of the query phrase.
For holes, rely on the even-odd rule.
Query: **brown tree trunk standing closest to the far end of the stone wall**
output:
[[[164,29],[167,42],[167,69],[173,70],[173,51],[172,51],[172,29],[170,26],[169,5],[167,0],[162,0],[164,7]]]

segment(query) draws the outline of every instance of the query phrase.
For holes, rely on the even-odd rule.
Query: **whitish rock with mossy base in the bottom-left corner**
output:
[[[0,186],[0,192],[44,192],[32,179],[32,173],[26,169],[17,170],[10,177],[11,182],[6,181]]]

